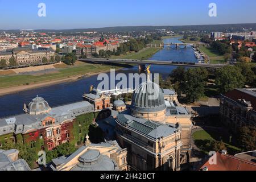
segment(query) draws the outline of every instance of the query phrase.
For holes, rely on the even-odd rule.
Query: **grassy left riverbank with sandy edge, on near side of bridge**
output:
[[[90,77],[100,73],[109,72],[111,68],[118,70],[123,67],[82,64],[79,67],[65,68],[57,73],[49,73],[40,76],[16,75],[0,77],[0,96],[63,82],[76,81],[82,77]]]

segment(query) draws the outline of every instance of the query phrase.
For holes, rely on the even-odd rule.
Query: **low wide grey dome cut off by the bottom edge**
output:
[[[79,158],[72,171],[115,171],[117,164],[106,155],[101,155],[98,150],[88,150]]]

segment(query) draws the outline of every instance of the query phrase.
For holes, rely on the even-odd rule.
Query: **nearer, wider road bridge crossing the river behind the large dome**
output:
[[[222,68],[226,64],[208,64],[208,63],[186,63],[183,61],[159,61],[159,60],[131,60],[131,59],[79,59],[92,64],[138,64],[139,70],[144,70],[146,64],[152,65],[172,65],[181,67],[203,67],[203,68]]]

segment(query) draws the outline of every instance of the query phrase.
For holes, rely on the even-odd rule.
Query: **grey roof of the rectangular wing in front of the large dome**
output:
[[[135,118],[126,114],[118,114],[116,121],[117,123],[152,139],[167,137],[176,133],[177,131],[175,127],[163,125],[154,121],[147,121],[143,118]]]

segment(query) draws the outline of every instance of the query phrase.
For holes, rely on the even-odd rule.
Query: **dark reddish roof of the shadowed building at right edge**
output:
[[[246,100],[251,102],[253,110],[256,110],[256,89],[234,89],[224,96],[233,101]]]

